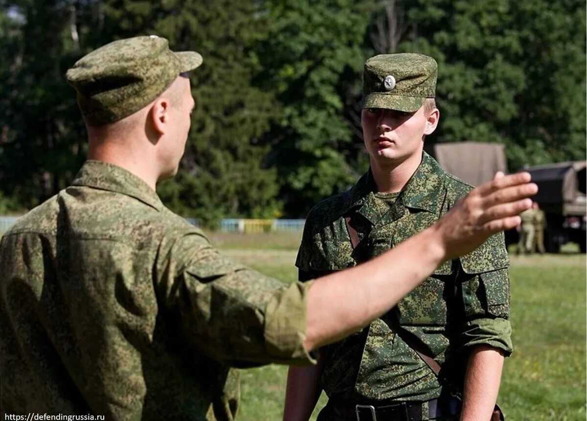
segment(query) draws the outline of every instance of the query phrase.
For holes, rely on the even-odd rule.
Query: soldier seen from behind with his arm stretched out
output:
[[[529,174],[502,177],[379,260],[284,285],[223,257],[155,192],[177,171],[194,106],[183,72],[201,62],[142,36],[68,70],[89,160],[2,237],[0,413],[234,420],[232,367],[313,363],[312,349],[367,325],[530,206]]]

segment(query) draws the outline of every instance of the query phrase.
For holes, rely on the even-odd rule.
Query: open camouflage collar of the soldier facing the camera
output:
[[[426,152],[422,153],[422,160],[410,180],[406,183],[400,195],[397,197],[399,203],[404,206],[420,209],[431,213],[437,213],[438,197],[444,191],[443,176],[446,172]],[[357,210],[362,207],[369,196],[375,190],[375,180],[371,170],[363,174],[359,181],[350,188],[345,211]]]

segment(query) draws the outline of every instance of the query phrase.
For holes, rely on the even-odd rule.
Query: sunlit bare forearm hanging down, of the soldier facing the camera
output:
[[[465,373],[461,421],[490,420],[500,390],[504,355],[491,346],[475,346]]]

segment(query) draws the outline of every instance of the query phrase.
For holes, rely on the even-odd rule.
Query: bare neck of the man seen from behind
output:
[[[149,184],[153,191],[155,190],[158,175],[153,169],[156,169],[157,166],[154,164],[153,159],[146,156],[145,151],[138,153],[136,148],[129,146],[125,142],[116,142],[115,140],[93,141],[90,139],[87,159],[121,167]],[[150,163],[153,164],[151,165]]]

